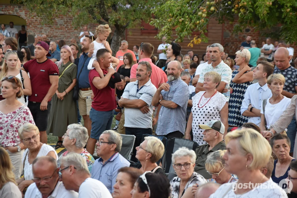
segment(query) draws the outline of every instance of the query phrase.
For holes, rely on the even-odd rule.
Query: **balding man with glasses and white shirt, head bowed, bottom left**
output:
[[[25,194],[25,198],[77,198],[78,193],[66,190],[59,181],[59,168],[56,159],[41,156],[34,159],[32,164],[33,181]]]

